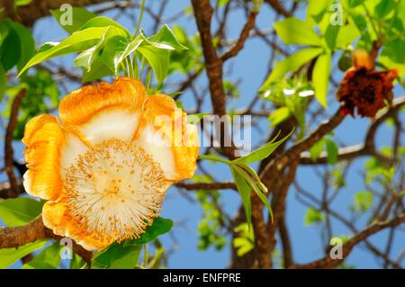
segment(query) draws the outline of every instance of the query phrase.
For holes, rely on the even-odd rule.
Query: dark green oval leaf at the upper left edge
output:
[[[0,46],[0,64],[4,71],[8,71],[18,63],[21,57],[21,46],[18,33],[10,29]]]

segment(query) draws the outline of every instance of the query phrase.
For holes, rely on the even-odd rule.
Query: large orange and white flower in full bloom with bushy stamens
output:
[[[139,237],[167,188],[195,171],[195,127],[172,98],[147,95],[137,80],[80,88],[58,112],[60,123],[44,114],[25,127],[24,187],[48,200],[46,227],[88,250]]]

